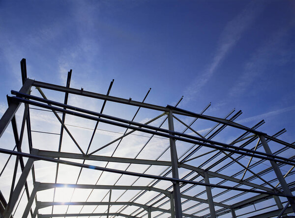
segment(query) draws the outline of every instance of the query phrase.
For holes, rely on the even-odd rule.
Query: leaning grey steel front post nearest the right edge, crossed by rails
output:
[[[264,149],[266,151],[266,154],[272,154],[272,152],[271,152],[271,150],[270,150],[270,148],[269,148],[269,146],[268,146],[268,144],[266,142],[265,137],[264,136],[259,136],[259,138],[260,138],[260,141],[261,141],[261,143],[262,143],[262,145],[263,145],[263,147],[264,147]],[[288,186],[286,180],[284,179],[284,176],[283,176],[280,168],[278,167],[277,163],[274,162],[274,161],[270,161],[270,164],[271,164],[276,176],[278,177],[278,180],[279,180],[279,182],[280,182],[280,184],[281,184],[281,186],[282,186],[282,188],[284,190],[284,194],[292,195],[292,192],[290,191],[289,186]],[[290,202],[290,205],[291,205],[293,211],[295,212],[294,198],[287,197],[287,199]]]

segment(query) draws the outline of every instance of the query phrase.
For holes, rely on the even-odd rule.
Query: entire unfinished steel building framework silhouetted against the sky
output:
[[[260,127],[264,121],[257,123],[252,128],[234,122],[234,120],[241,114],[238,111],[234,114],[234,110],[225,116],[225,118],[216,118],[204,115],[204,112],[210,106],[200,113],[193,113],[187,110],[183,110],[176,106],[167,105],[166,107],[145,103],[143,101],[134,101],[130,99],[124,99],[120,97],[110,96],[110,91],[113,85],[113,81],[110,84],[109,90],[106,95],[88,92],[83,89],[70,88],[70,80],[72,71],[68,72],[66,86],[59,86],[49,84],[41,81],[35,81],[27,77],[26,60],[21,61],[22,81],[23,86],[20,91],[11,91],[12,97],[7,96],[8,109],[0,120],[0,137],[4,133],[6,127],[11,123],[12,130],[15,138],[15,147],[11,146],[11,149],[0,148],[1,153],[9,154],[9,158],[3,170],[7,166],[10,157],[15,155],[15,170],[11,181],[11,192],[9,199],[5,199],[3,195],[0,195],[0,214],[4,218],[13,217],[13,212],[17,210],[20,202],[20,198],[25,197],[22,195],[22,191],[27,195],[27,206],[23,212],[23,218],[38,217],[38,218],[50,218],[50,217],[126,217],[126,218],[141,218],[141,217],[190,217],[190,218],[217,218],[217,217],[287,217],[294,215],[295,212],[295,196],[292,192],[295,190],[294,179],[288,180],[285,178],[292,178],[294,175],[295,166],[295,145],[281,141],[277,139],[286,130],[283,129],[276,134],[269,136],[264,132],[256,130]],[[30,95],[31,87],[36,87],[42,97]],[[64,102],[60,103],[54,100],[47,99],[42,90],[52,90],[60,94],[64,94]],[[90,97],[103,100],[103,105],[100,112],[89,111],[84,108],[78,108],[76,106],[68,105],[68,96],[78,95],[82,97]],[[118,107],[122,104],[131,105],[137,107],[137,111],[133,119],[125,120],[119,117],[109,116],[103,113],[105,104],[108,101],[116,102]],[[25,105],[23,120],[21,123],[20,133],[18,132],[15,114],[21,104]],[[32,145],[32,130],[30,125],[30,113],[29,109],[34,106],[34,109],[50,110],[54,113],[59,120],[61,128],[59,134],[59,149],[53,150],[38,150]],[[149,110],[157,111],[159,116],[147,121],[146,123],[135,122],[135,116],[139,112],[140,108],[146,108]],[[96,121],[92,137],[87,151],[83,150],[70,130],[65,124],[65,115],[73,115],[83,119]],[[61,118],[60,118],[61,115]],[[151,125],[153,121],[163,118],[159,126]],[[180,117],[182,119],[180,119]],[[187,124],[184,118],[190,118],[192,121]],[[164,122],[168,120],[168,128],[162,127]],[[207,131],[206,134],[200,134],[194,130],[191,126],[197,120],[211,121],[212,128]],[[184,130],[179,132],[175,131],[174,122],[181,123]],[[112,126],[119,126],[125,128],[125,132],[122,136],[113,140],[112,142],[97,148],[90,152],[90,145],[92,143],[95,131],[98,123],[107,123]],[[214,141],[213,138],[219,134],[225,127],[238,129],[241,134],[236,137],[232,143],[226,144],[218,141]],[[29,153],[22,152],[22,141],[24,138],[25,128],[28,133]],[[192,133],[187,134],[187,130]],[[61,152],[62,136],[63,134],[69,135],[74,144],[80,150],[80,153]],[[165,149],[162,154],[167,150],[170,151],[171,161],[160,160],[157,157],[154,160],[138,159],[138,154],[135,158],[127,157],[115,157],[96,155],[96,153],[109,145],[116,142],[118,144],[121,140],[134,132],[142,132],[148,134],[148,141],[144,147],[150,142],[153,137],[161,137],[169,139],[169,147]],[[42,133],[42,132],[41,132]],[[43,132],[46,134],[46,132]],[[48,133],[48,132],[47,132]],[[49,133],[50,134],[50,133]],[[190,144],[190,148],[186,150],[181,156],[177,153],[177,142],[183,142]],[[269,143],[275,143],[279,146],[274,153],[269,148]],[[254,144],[254,145],[252,145]],[[63,145],[64,146],[64,145]],[[118,145],[117,145],[118,147]],[[201,148],[207,147],[209,150],[206,153],[200,153]],[[263,148],[263,151],[258,151],[258,148]],[[116,148],[117,149],[117,148]],[[140,150],[142,152],[143,148]],[[260,149],[261,150],[261,149]],[[286,152],[288,151],[288,152]],[[115,151],[114,151],[115,152]],[[281,155],[283,154],[284,155]],[[114,154],[114,153],[113,153]],[[286,156],[289,155],[289,156]],[[206,156],[207,155],[207,156]],[[191,165],[189,163],[196,163],[200,157],[206,156],[205,162],[198,162],[198,166]],[[24,158],[26,157],[27,162]],[[241,160],[248,158],[248,164],[244,165]],[[255,160],[252,160],[252,159]],[[81,160],[83,162],[81,163]],[[57,163],[55,183],[42,183],[35,181],[34,162],[36,161],[48,161]],[[86,161],[107,162],[107,163],[122,163],[129,164],[125,170],[117,170],[108,168],[108,164],[105,167],[99,167],[95,165],[86,164]],[[93,163],[93,162],[92,162]],[[267,166],[270,163],[271,166],[266,167],[262,171],[255,170],[257,166]],[[81,171],[84,168],[92,170],[100,170],[105,172],[118,173],[122,175],[134,176],[137,178],[148,178],[151,182],[145,186],[138,186],[133,183],[130,186],[116,185],[119,179],[114,180],[114,184],[110,185],[96,185],[93,184],[79,184],[78,179],[73,184],[59,184],[57,183],[57,177],[59,172],[59,165],[71,165],[80,168]],[[158,174],[148,174],[145,170],[142,173],[128,170],[130,165],[145,165],[147,170],[151,166],[162,166],[165,170]],[[17,169],[20,165],[22,174],[19,179],[16,179]],[[227,170],[230,166],[239,166],[242,170],[228,170],[224,173],[223,170]],[[290,169],[287,173],[282,173],[282,168]],[[183,170],[181,176],[179,170]],[[3,172],[2,170],[2,172]],[[1,173],[2,173],[1,172]],[[245,176],[246,172],[251,174]],[[274,177],[266,178],[264,175],[267,173],[274,173]],[[29,190],[27,184],[27,177],[29,173],[32,173],[33,189]],[[121,178],[121,176],[119,178]],[[216,180],[217,178],[217,180]],[[294,177],[293,177],[294,178]],[[99,179],[98,179],[99,180]],[[97,180],[97,181],[98,181]],[[254,181],[255,180],[255,181]],[[157,184],[161,181],[170,182],[170,185],[166,185],[166,188],[157,188]],[[214,182],[215,181],[215,182]],[[217,182],[216,182],[217,181]],[[252,182],[253,181],[253,182]],[[257,182],[259,181],[259,182]],[[291,182],[290,182],[291,181]],[[165,184],[169,184],[169,183]],[[277,184],[277,185],[276,185]],[[108,201],[84,201],[84,202],[55,202],[52,201],[38,201],[37,196],[39,191],[56,189],[59,187],[77,188],[77,189],[104,189],[109,190]],[[205,187],[198,193],[190,194],[190,191],[196,189],[196,187]],[[123,190],[123,194],[127,190],[137,190],[138,192],[130,198],[129,201],[111,201],[112,191]],[[92,191],[91,191],[92,192]],[[156,193],[148,201],[140,201],[141,196],[145,196],[148,192]],[[24,193],[23,193],[24,194]],[[204,197],[205,195],[205,197]],[[121,194],[122,196],[122,194]],[[105,197],[108,197],[107,195]],[[8,203],[7,203],[8,202]],[[264,207],[253,211],[252,206],[259,204],[260,202],[266,202]],[[269,204],[269,202],[274,202]],[[55,205],[106,205],[108,207],[105,211],[93,210],[92,213],[80,213],[76,214],[55,214],[53,213],[53,207]],[[120,205],[121,207],[114,211],[113,205]],[[39,209],[45,207],[52,207],[51,214],[40,214]],[[243,210],[245,209],[246,210]],[[127,210],[128,209],[128,210]],[[128,211],[128,212],[127,212]],[[131,211],[131,212],[130,212]]]

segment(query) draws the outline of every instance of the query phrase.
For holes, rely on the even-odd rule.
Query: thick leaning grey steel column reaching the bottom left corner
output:
[[[34,154],[36,154],[36,152],[33,152]],[[34,159],[29,158],[27,161],[27,164],[22,172],[22,175],[19,178],[19,181],[13,191],[13,194],[11,196],[11,199],[9,199],[9,202],[5,208],[5,211],[3,213],[3,218],[10,218],[13,208],[22,192],[23,187],[25,186],[25,183],[27,181],[27,177],[29,175],[29,171],[31,170],[32,166],[34,163]]]

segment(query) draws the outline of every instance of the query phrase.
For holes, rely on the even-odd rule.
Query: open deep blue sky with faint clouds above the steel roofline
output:
[[[0,112],[28,76],[295,132],[295,2],[0,1]],[[264,129],[265,128],[265,129]]]

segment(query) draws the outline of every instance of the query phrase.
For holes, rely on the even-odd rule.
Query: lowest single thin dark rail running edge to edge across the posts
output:
[[[33,150],[35,150],[35,149],[33,149]],[[258,194],[268,194],[268,195],[277,195],[277,196],[295,198],[295,196],[288,195],[288,194],[279,194],[279,193],[274,193],[274,192],[262,192],[262,191],[258,191],[258,190],[249,190],[249,189],[242,189],[242,188],[236,188],[236,187],[230,187],[230,186],[208,184],[208,183],[203,183],[203,182],[197,182],[197,181],[191,181],[191,180],[185,180],[185,179],[176,179],[176,178],[165,177],[165,176],[155,176],[155,175],[150,175],[150,174],[136,173],[136,172],[130,172],[130,171],[124,171],[124,170],[102,168],[102,167],[97,167],[97,166],[81,164],[81,163],[75,163],[75,162],[71,162],[71,161],[58,160],[58,159],[42,157],[42,156],[34,155],[34,154],[28,154],[28,153],[23,153],[23,152],[18,152],[18,151],[7,150],[7,149],[3,149],[3,148],[0,148],[0,152],[6,153],[6,154],[12,154],[12,155],[19,155],[19,156],[23,156],[23,157],[29,157],[29,158],[33,158],[35,160],[44,160],[44,161],[49,161],[49,162],[55,162],[55,163],[76,166],[76,167],[83,167],[83,168],[88,168],[88,169],[92,169],[92,170],[102,170],[102,171],[114,172],[114,173],[131,175],[131,176],[139,176],[139,177],[159,179],[159,180],[165,180],[165,181],[170,181],[170,182],[179,182],[179,183],[185,183],[185,184],[209,186],[209,187],[215,187],[215,188],[220,188],[220,189],[230,189],[230,190],[236,190],[236,191],[241,191],[241,192],[251,192],[251,193],[258,193]]]

